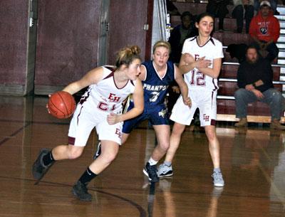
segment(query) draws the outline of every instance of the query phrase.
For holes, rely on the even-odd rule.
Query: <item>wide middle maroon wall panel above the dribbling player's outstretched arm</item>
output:
[[[98,0],[38,2],[36,85],[61,86],[97,66]]]

